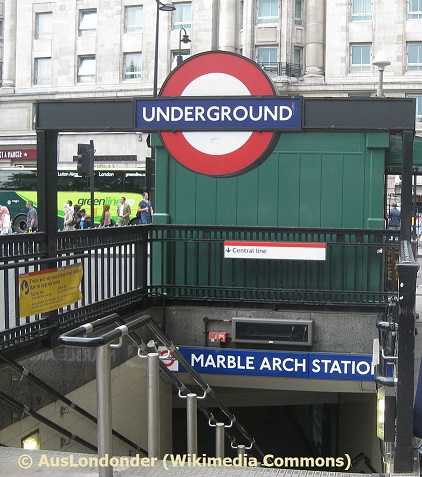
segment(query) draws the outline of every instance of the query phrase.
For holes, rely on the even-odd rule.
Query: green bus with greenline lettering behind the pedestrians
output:
[[[145,170],[143,169],[96,169],[94,172],[94,224],[101,220],[103,206],[110,205],[110,212],[117,223],[117,207],[120,197],[126,197],[132,210],[130,225],[137,223],[136,218],[142,193],[145,191]],[[29,167],[8,167],[0,169],[0,205],[10,211],[14,232],[25,232],[26,202],[32,201],[37,207],[37,169]],[[79,204],[91,215],[91,193],[89,180],[76,170],[59,169],[57,171],[57,223],[63,228],[63,205],[71,200]]]

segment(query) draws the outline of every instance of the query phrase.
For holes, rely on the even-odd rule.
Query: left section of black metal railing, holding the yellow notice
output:
[[[49,257],[44,233],[0,237],[0,349],[41,340],[104,312],[147,298],[147,230],[114,227],[57,234]],[[19,275],[82,264],[82,299],[51,313],[21,317]]]

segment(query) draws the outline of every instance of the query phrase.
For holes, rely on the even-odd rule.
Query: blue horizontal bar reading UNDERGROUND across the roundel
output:
[[[140,131],[277,131],[301,129],[300,98],[220,97],[136,100]]]

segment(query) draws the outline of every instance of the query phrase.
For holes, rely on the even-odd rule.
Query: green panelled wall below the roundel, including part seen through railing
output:
[[[160,144],[158,136],[153,144]],[[384,228],[388,145],[388,133],[283,133],[259,167],[230,178],[191,172],[158,147],[154,223]],[[253,289],[383,287],[383,257],[367,247],[359,252],[330,248],[327,260],[318,263],[222,262],[221,253],[221,245],[171,244],[157,254],[161,258],[154,262],[154,281],[229,288],[246,284]]]

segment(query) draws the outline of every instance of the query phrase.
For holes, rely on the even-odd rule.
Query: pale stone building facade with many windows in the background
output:
[[[35,102],[151,95],[177,57],[225,50],[257,61],[282,95],[414,96],[422,132],[422,5],[406,0],[0,0],[0,150],[36,148]],[[158,33],[158,34],[157,34]],[[190,42],[184,43],[184,35]],[[158,45],[157,55],[155,44]],[[157,61],[156,61],[157,58]],[[154,84],[156,78],[156,84]],[[59,164],[95,140],[107,165],[145,167],[146,135],[63,135]],[[34,164],[7,154],[0,166]],[[126,158],[136,157],[128,163]]]

